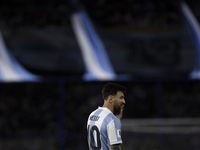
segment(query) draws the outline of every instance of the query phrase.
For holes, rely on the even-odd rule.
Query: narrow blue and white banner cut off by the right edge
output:
[[[185,3],[181,3],[181,11],[183,13],[186,25],[188,26],[197,50],[197,58],[194,70],[190,73],[191,79],[200,79],[200,25],[195,15]]]

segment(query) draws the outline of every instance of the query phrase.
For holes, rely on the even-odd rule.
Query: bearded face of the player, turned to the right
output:
[[[124,99],[124,93],[121,91],[117,92],[117,95],[113,96],[113,110],[114,115],[119,115],[121,111],[123,111],[125,99]]]

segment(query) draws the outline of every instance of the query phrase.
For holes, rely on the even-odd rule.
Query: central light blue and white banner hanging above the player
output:
[[[114,80],[114,69],[87,13],[80,10],[72,14],[71,23],[86,66],[84,79]]]

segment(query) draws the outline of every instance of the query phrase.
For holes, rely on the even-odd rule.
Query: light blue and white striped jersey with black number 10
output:
[[[108,108],[93,111],[87,129],[89,150],[109,150],[110,145],[122,143],[121,122]]]

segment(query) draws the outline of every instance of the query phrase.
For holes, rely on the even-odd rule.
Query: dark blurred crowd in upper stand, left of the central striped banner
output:
[[[0,4],[1,28],[69,26],[71,9],[64,0],[8,0]]]

